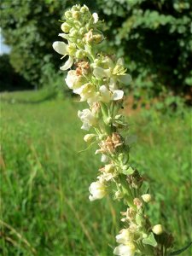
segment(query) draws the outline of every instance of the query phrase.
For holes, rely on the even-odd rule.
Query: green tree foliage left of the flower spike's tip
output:
[[[56,61],[51,44],[57,37],[58,18],[66,4],[67,1],[61,0],[5,0],[1,3],[1,26],[5,42],[12,49],[11,64],[33,84],[41,79],[42,68]]]

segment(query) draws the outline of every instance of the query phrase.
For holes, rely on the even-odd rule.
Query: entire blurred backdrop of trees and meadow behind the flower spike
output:
[[[0,254],[108,256],[122,227],[123,205],[88,200],[101,163],[95,148],[79,153],[86,145],[77,111],[85,105],[67,90],[52,49],[59,20],[76,3],[105,20],[101,50],[125,58],[133,78],[125,115],[137,135],[131,164],[155,196],[152,223],[184,247],[192,220],[192,3],[3,0]]]

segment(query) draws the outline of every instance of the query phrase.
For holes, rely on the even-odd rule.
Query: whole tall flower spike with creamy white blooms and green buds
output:
[[[65,19],[59,34],[65,42],[55,42],[53,48],[61,59],[68,56],[61,70],[75,67],[68,71],[66,84],[81,102],[88,103],[88,108],[78,113],[81,128],[91,130],[84,141],[98,144],[96,154],[101,154],[103,165],[90,184],[89,199],[110,194],[125,204],[125,212],[121,212],[124,228],[116,236],[115,255],[169,255],[172,235],[161,224],[150,223],[146,205],[152,196],[143,191],[143,177],[129,163],[130,145],[124,136],[128,124],[120,113],[124,102],[120,88],[131,83],[131,76],[123,59],[99,52],[104,36],[96,13],[91,15],[87,6],[75,5],[65,12]]]

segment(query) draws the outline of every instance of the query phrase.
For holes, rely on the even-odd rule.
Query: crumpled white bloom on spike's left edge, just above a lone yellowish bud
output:
[[[96,117],[91,113],[90,109],[86,108],[78,112],[79,119],[83,122],[81,129],[89,131],[90,126],[96,124]]]

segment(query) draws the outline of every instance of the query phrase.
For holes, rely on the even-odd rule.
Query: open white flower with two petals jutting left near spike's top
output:
[[[53,49],[55,49],[56,52],[58,52],[60,55],[66,56],[69,55],[68,51],[68,44],[65,44],[64,42],[54,42]],[[61,70],[67,70],[68,68],[72,67],[73,65],[73,57],[69,55],[68,60],[66,63],[60,67]]]

